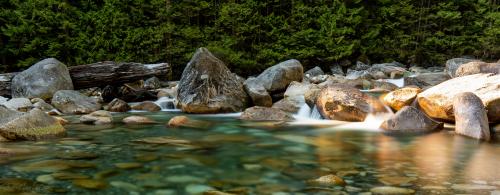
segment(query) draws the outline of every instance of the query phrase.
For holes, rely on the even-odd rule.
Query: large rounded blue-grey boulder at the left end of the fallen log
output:
[[[59,90],[72,90],[68,68],[54,58],[42,60],[12,79],[12,97],[50,99]]]

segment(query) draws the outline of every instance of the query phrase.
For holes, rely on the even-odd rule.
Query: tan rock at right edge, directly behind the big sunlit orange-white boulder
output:
[[[499,74],[500,63],[486,63],[486,62],[476,61],[476,62],[469,62],[466,64],[462,64],[460,67],[458,67],[457,71],[455,72],[455,76],[462,77],[479,73]]]

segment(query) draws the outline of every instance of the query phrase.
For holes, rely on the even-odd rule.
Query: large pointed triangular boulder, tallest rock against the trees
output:
[[[179,82],[177,100],[183,112],[238,112],[246,108],[248,99],[243,80],[208,49],[196,50]]]

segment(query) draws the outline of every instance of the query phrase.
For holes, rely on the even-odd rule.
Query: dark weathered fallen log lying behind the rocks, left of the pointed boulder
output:
[[[170,79],[172,67],[168,63],[140,64],[131,62],[98,62],[69,67],[75,89],[123,84],[156,76]]]

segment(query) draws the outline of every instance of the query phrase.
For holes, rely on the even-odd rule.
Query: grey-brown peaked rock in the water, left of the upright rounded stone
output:
[[[384,121],[380,128],[387,133],[428,133],[442,129],[443,123],[432,120],[414,107],[405,106]]]

